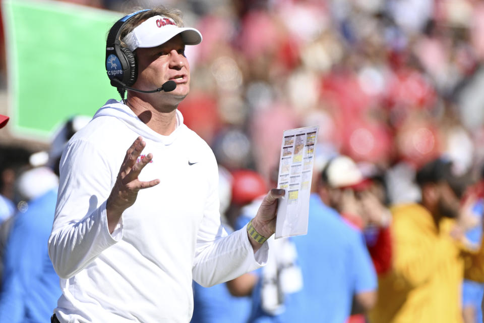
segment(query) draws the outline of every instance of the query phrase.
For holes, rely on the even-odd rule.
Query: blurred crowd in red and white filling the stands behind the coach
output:
[[[455,174],[470,176],[469,185],[481,179],[480,0],[68,2],[119,12],[163,4],[180,9],[185,24],[201,31],[202,43],[186,50],[191,93],[179,110],[212,147],[227,179],[221,196],[228,227],[236,228],[241,204],[261,193],[251,191],[254,184],[236,186],[244,181],[232,175],[250,170],[264,189],[274,185],[286,129],[319,125],[315,174],[346,155],[363,177],[381,180],[385,206],[419,201],[415,174],[436,158],[451,160]],[[2,55],[3,91],[7,70]],[[34,138],[1,142],[0,194],[15,205],[2,213],[4,221],[52,188],[48,180],[19,181],[25,171],[49,166],[48,153],[35,153],[50,149],[52,158],[52,149]],[[30,192],[32,183],[45,187]]]

